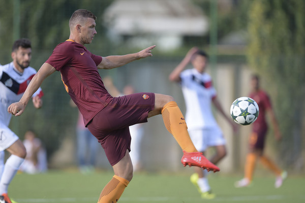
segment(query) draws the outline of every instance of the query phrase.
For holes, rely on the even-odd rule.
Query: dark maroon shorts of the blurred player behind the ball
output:
[[[250,148],[251,149],[264,149],[265,140],[266,140],[267,128],[263,127],[257,130],[254,130],[250,135]]]

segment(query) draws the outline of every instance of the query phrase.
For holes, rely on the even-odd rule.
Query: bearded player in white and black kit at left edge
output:
[[[8,187],[26,155],[24,145],[8,127],[12,116],[8,113],[8,107],[21,98],[29,81],[36,74],[36,70],[29,66],[32,58],[29,40],[15,41],[11,56],[11,63],[0,66],[0,200],[5,203],[11,203],[7,194]],[[42,95],[41,88],[38,88],[32,96],[37,109],[42,106]],[[11,153],[5,164],[4,150]]]

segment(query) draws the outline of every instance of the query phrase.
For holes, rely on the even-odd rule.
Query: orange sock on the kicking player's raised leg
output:
[[[166,129],[174,136],[181,149],[186,152],[197,152],[177,103],[170,101],[163,107],[161,113]]]

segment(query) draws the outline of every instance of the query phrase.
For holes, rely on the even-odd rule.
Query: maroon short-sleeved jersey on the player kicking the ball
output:
[[[85,125],[112,98],[98,72],[97,65],[101,61],[101,56],[90,53],[72,40],[58,44],[46,61],[62,75],[65,88],[83,115]]]

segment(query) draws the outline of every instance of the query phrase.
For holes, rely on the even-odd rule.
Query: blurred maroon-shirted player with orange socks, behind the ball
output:
[[[252,124],[252,132],[249,138],[249,153],[246,158],[245,164],[245,177],[240,181],[235,182],[235,187],[246,187],[252,179],[256,159],[259,157],[261,163],[269,168],[277,177],[275,187],[279,188],[283,184],[283,180],[287,177],[287,172],[282,171],[274,162],[272,162],[267,156],[263,154],[266,134],[268,130],[268,124],[266,122],[266,113],[269,114],[272,127],[275,133],[275,138],[280,141],[282,136],[279,129],[279,125],[275,116],[275,113],[271,107],[271,101],[268,94],[260,88],[259,76],[252,75],[251,77],[252,90],[249,97],[253,98],[259,107],[259,116]]]

